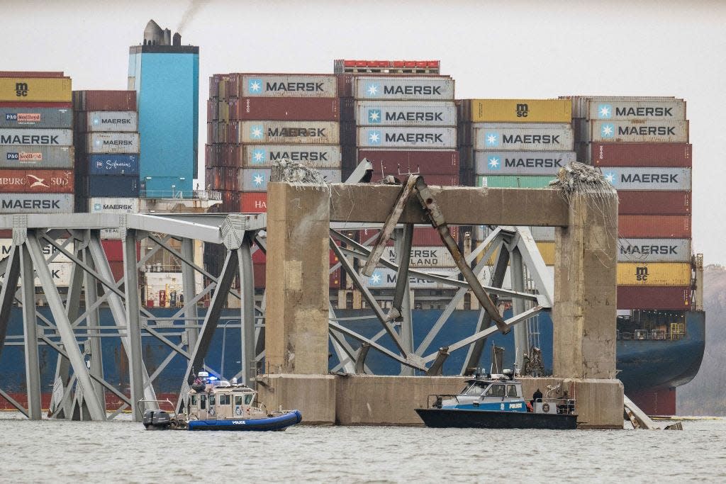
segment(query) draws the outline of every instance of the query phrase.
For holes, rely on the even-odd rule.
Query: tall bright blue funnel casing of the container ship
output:
[[[129,89],[139,109],[142,197],[190,192],[197,175],[199,47],[131,46]]]

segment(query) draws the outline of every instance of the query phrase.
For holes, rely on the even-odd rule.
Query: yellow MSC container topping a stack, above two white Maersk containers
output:
[[[474,123],[570,123],[570,99],[471,99]]]

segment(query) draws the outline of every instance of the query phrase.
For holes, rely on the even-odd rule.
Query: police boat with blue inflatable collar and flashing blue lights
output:
[[[147,430],[285,430],[302,422],[298,410],[268,411],[264,403],[256,401],[257,392],[252,388],[218,380],[207,372],[199,372],[184,402],[184,409],[177,413],[160,409],[144,411],[144,427]],[[171,401],[141,400],[148,405]]]

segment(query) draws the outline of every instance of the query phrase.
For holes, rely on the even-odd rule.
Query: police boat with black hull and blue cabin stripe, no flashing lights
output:
[[[552,398],[559,387],[548,386],[543,398],[529,401],[512,370],[476,374],[458,395],[429,395],[427,408],[416,409],[416,413],[426,427],[574,429],[576,402]]]

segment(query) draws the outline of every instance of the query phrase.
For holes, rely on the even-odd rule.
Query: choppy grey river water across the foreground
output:
[[[726,420],[682,423],[682,432],[299,425],[147,432],[133,422],[3,414],[0,482],[726,482]]]

